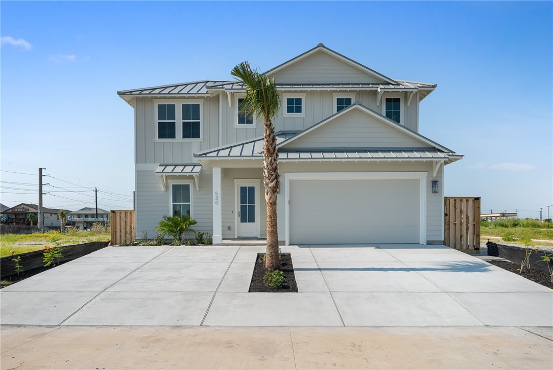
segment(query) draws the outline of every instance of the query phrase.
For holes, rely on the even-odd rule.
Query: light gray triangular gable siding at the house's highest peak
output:
[[[317,51],[274,73],[276,82],[381,82],[324,51]]]

